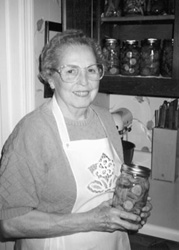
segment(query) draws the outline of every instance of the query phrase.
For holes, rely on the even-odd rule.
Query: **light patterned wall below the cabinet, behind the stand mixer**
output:
[[[135,144],[134,162],[151,167],[152,129],[155,126],[154,113],[166,98],[143,96],[109,95],[99,93],[95,103],[107,107],[111,113],[126,108],[132,113],[132,130],[124,135]],[[128,116],[127,116],[128,118]]]

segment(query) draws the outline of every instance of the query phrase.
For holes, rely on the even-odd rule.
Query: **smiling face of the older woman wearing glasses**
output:
[[[89,46],[71,45],[63,48],[59,68],[64,65],[86,68],[95,63],[95,55]],[[73,83],[63,81],[57,72],[53,75],[53,82],[55,96],[63,115],[72,119],[84,117],[98,93],[99,81],[89,80],[86,71],[82,69],[79,78]]]

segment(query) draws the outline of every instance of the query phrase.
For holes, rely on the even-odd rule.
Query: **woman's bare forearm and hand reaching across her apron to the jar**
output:
[[[44,213],[37,210],[0,221],[0,241],[22,238],[50,238],[79,232],[137,231],[141,217],[112,207],[112,200],[82,213]]]

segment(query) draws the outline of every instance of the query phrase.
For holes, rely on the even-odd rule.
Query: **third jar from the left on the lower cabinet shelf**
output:
[[[141,41],[140,75],[159,76],[161,63],[161,40],[148,38]]]

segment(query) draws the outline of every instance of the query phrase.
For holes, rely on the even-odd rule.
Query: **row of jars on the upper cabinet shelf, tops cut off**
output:
[[[104,17],[174,14],[175,0],[106,0]]]

